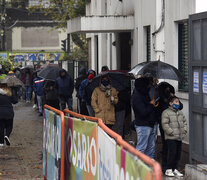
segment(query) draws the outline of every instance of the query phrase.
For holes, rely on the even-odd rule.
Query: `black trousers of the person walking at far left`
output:
[[[0,144],[4,143],[4,136],[10,136],[12,129],[13,119],[0,119]]]

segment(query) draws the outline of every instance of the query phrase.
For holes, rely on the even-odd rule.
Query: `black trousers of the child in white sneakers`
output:
[[[178,168],[178,162],[181,157],[182,141],[166,140],[168,146],[167,169],[173,171]]]

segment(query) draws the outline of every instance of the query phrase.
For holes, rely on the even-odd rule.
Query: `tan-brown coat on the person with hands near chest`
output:
[[[114,97],[114,103],[110,103],[111,97],[106,97],[105,91],[99,87],[95,88],[91,98],[91,105],[95,112],[95,116],[101,118],[104,124],[115,123],[115,108],[114,104],[118,103],[118,92],[115,88],[111,88],[111,96]]]

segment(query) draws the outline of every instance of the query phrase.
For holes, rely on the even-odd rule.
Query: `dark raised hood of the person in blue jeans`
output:
[[[138,78],[135,80],[135,89],[142,93],[142,94],[148,94],[149,93],[149,85],[150,85],[150,80],[149,78]]]

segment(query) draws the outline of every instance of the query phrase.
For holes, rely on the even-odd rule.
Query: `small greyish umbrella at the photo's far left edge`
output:
[[[19,80],[15,75],[7,75],[3,79],[0,79],[1,84],[7,84],[9,87],[24,86],[23,82]]]

